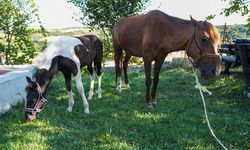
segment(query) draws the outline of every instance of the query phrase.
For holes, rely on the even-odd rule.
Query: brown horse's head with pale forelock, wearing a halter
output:
[[[193,33],[186,52],[193,59],[193,65],[199,68],[204,79],[214,78],[221,70],[218,54],[219,32],[207,21],[196,21],[191,17],[191,22]]]

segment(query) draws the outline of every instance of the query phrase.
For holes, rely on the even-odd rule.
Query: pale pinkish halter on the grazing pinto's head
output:
[[[25,108],[26,112],[30,112],[32,114],[36,114],[36,113],[41,112],[42,111],[42,109],[41,109],[42,105],[47,102],[47,100],[43,97],[42,89],[41,89],[40,85],[37,82],[35,82],[35,83],[37,85],[37,92],[38,92],[38,95],[39,95],[38,100],[36,101],[36,104],[35,104],[34,108],[27,108],[27,107]]]

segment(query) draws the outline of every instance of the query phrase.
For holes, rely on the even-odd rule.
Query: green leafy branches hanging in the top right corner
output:
[[[222,0],[229,3],[228,8],[224,8],[222,14],[230,16],[233,13],[238,13],[241,16],[248,16],[247,28],[250,31],[250,1],[249,0]]]

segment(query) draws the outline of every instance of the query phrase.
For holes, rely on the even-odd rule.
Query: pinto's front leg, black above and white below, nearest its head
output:
[[[63,73],[63,75],[64,75],[66,88],[67,88],[68,96],[69,96],[69,107],[67,108],[67,110],[71,112],[73,105],[74,105],[74,98],[73,98],[72,87],[71,87],[71,73]]]

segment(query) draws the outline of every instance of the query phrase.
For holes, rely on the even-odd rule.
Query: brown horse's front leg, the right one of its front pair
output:
[[[153,79],[153,87],[152,87],[152,92],[151,92],[153,104],[156,104],[156,100],[155,100],[156,88],[157,88],[157,84],[159,82],[159,74],[160,74],[161,66],[162,66],[164,60],[165,60],[165,57],[158,58],[157,60],[155,60],[154,79]]]

